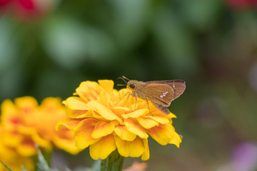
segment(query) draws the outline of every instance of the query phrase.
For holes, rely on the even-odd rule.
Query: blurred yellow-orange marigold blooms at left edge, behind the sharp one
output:
[[[14,103],[4,100],[1,103],[1,129],[4,131],[0,132],[0,160],[6,161],[11,169],[16,168],[14,164],[21,168],[21,164],[25,166],[26,162],[31,162],[29,157],[36,155],[35,144],[49,152],[57,147],[71,154],[78,153],[74,132],[65,127],[59,131],[55,129],[64,118],[66,111],[59,98],[45,98],[41,105],[32,97],[16,98]]]

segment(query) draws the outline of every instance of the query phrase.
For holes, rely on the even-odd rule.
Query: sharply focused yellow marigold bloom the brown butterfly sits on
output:
[[[172,113],[166,115],[145,100],[129,96],[128,89],[114,90],[114,82],[82,82],[76,93],[64,101],[68,118],[61,120],[75,133],[76,146],[89,147],[94,160],[106,159],[114,150],[124,157],[140,157],[148,160],[148,136],[161,145],[179,147],[180,136],[172,126]],[[135,108],[136,102],[136,109]]]

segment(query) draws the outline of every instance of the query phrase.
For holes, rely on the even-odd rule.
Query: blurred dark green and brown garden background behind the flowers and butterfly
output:
[[[181,147],[150,140],[147,170],[257,170],[256,0],[0,0],[0,15],[0,101],[183,79],[169,108]],[[52,164],[92,162],[56,151]]]

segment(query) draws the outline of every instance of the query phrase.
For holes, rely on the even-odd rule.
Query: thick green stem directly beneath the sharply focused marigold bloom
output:
[[[118,150],[115,150],[105,160],[101,160],[100,171],[121,171],[123,163],[124,157],[119,154]]]

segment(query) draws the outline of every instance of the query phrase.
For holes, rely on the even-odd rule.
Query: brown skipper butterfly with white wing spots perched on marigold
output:
[[[178,98],[179,95],[183,93],[186,89],[186,83],[182,80],[170,80],[170,81],[135,81],[129,80],[128,78],[122,76],[122,80],[126,79],[127,87],[132,90],[132,93],[129,93],[133,97],[141,98],[148,100],[153,103],[159,110],[165,114],[169,114],[168,106],[171,105],[171,101]],[[124,86],[124,85],[118,85]],[[136,105],[135,105],[136,108]],[[148,106],[148,109],[151,113],[151,110]]]

